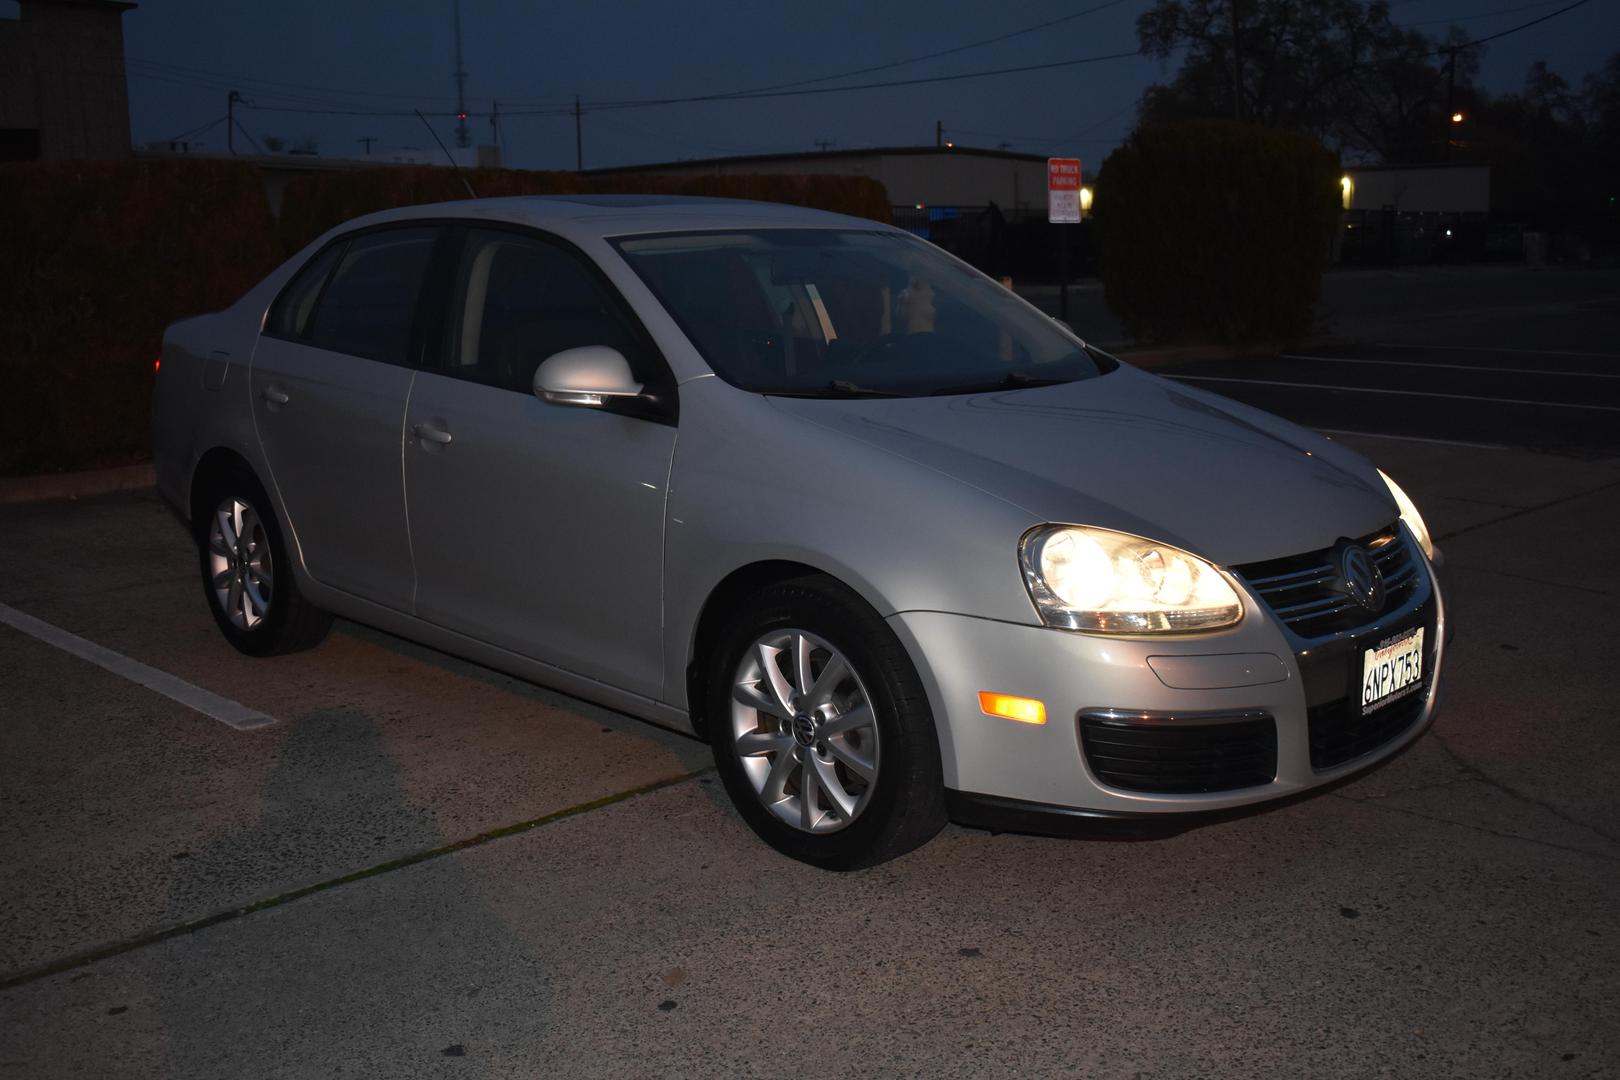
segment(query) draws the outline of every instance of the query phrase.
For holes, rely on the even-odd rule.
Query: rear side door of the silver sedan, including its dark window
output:
[[[271,309],[249,379],[259,445],[309,576],[407,612],[400,440],[441,235],[376,228],[311,259]]]

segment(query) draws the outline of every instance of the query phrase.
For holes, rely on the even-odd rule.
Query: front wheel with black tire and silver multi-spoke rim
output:
[[[708,678],[714,764],[771,847],[859,870],[944,826],[940,743],[894,631],[829,578],[758,593],[721,631]]]

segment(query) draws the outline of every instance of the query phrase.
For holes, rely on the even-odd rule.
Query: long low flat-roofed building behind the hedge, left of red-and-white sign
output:
[[[1047,212],[1047,159],[1011,151],[980,151],[956,146],[888,146],[859,151],[808,154],[750,154],[590,168],[593,176],[748,176],[748,175],[836,175],[872,176],[889,193],[889,202],[907,207],[985,207]]]

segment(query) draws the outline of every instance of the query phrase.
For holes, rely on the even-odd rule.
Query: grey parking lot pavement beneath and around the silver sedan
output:
[[[1416,746],[1139,844],[779,858],[706,748],[340,623],[219,638],[149,494],[0,508],[0,1075],[1620,1074],[1620,465],[1348,439],[1447,551]]]

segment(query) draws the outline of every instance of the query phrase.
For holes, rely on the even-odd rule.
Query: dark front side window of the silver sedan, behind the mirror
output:
[[[450,293],[447,374],[530,393],[548,356],[606,345],[654,382],[651,358],[608,287],[565,248],[535,236],[473,228]]]

